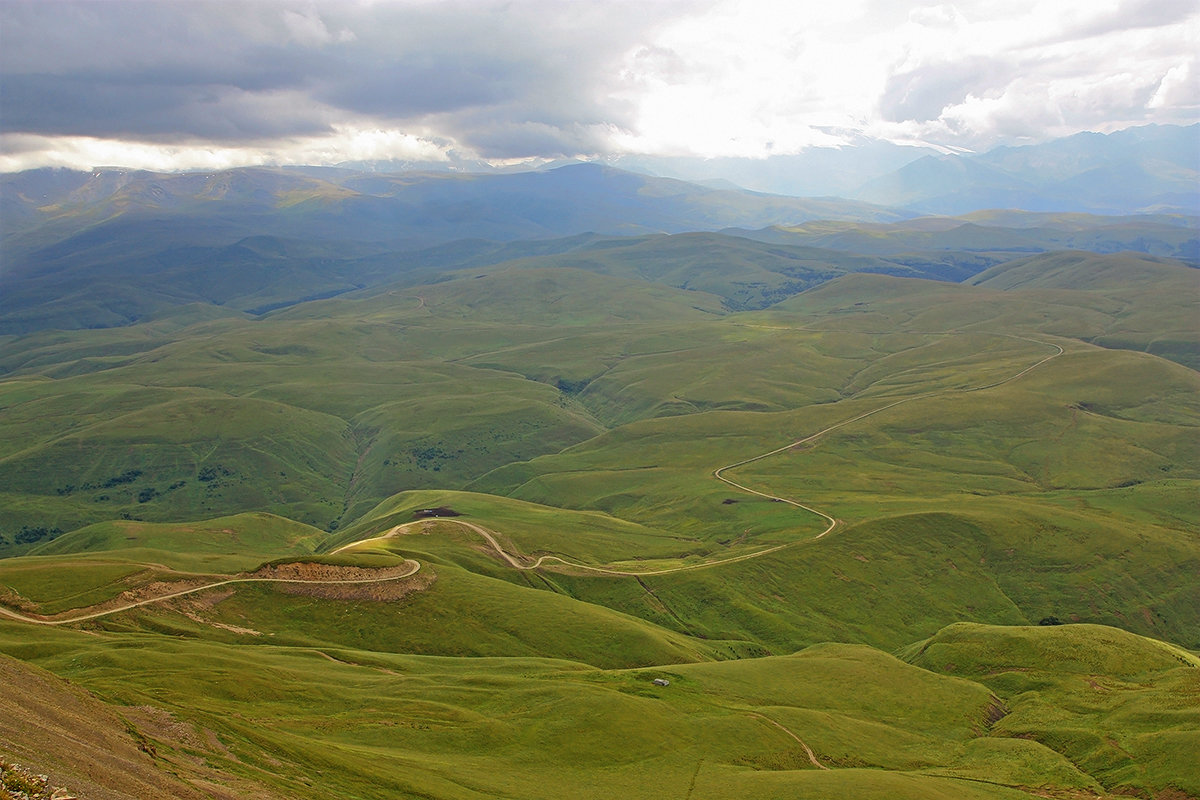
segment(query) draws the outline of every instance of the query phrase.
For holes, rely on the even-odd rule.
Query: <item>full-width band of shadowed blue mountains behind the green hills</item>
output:
[[[205,315],[263,314],[504,263],[655,281],[745,309],[847,272],[958,282],[1056,249],[1200,260],[1196,221],[1180,215],[914,218],[600,164],[492,175],[34,170],[0,178],[0,333],[127,325],[192,303]]]

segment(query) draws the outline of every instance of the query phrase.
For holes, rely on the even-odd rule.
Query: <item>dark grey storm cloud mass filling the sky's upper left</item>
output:
[[[436,121],[487,156],[539,155],[529,148],[557,151],[581,125],[626,121],[607,86],[654,24],[643,8],[0,2],[2,125],[239,144]]]

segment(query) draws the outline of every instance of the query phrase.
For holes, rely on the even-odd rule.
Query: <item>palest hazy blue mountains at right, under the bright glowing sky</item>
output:
[[[1200,213],[1200,126],[1148,125],[1043,144],[946,152],[853,137],[767,158],[613,156],[612,167],[710,187],[842,197],[916,213],[982,209],[1091,213]],[[556,162],[563,166],[574,162]],[[367,172],[488,172],[482,162],[355,163]],[[511,167],[505,167],[511,170]]]

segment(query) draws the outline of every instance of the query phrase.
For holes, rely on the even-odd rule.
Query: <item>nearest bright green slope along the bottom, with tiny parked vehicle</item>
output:
[[[1189,757],[1195,657],[1097,626],[953,626],[908,648],[920,666],[822,644],[613,670],[194,631],[31,638],[14,622],[0,622],[0,650],[116,704],[108,714],[199,796],[248,783],[294,798],[1015,800],[1200,789]],[[12,687],[24,694],[29,680]],[[54,741],[41,757],[71,763],[80,747]],[[203,782],[194,766],[180,769],[197,757]],[[212,792],[222,786],[227,794]]]

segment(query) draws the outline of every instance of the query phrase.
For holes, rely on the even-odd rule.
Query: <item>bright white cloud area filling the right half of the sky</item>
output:
[[[1198,20],[1170,0],[720,2],[626,59],[637,114],[614,146],[764,156],[850,130],[988,148],[1187,121]]]

